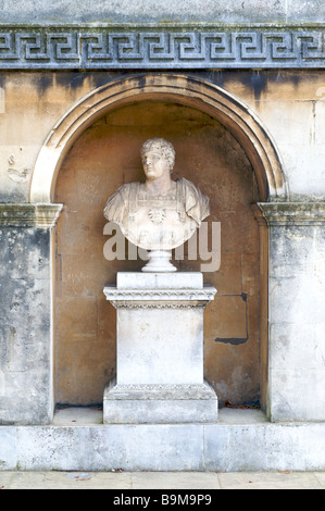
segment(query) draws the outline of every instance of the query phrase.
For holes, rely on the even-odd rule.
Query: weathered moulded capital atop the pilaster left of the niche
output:
[[[55,225],[62,204],[0,204],[0,227],[51,228]]]

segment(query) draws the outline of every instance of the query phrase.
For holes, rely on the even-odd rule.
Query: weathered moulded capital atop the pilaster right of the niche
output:
[[[267,225],[325,225],[325,202],[259,202]]]

